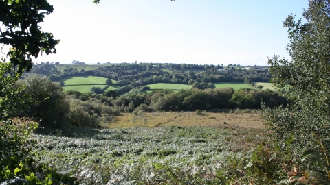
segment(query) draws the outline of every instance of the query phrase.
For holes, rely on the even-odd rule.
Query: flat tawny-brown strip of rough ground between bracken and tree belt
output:
[[[115,121],[103,124],[103,127],[158,127],[164,125],[176,126],[210,126],[210,127],[244,127],[264,128],[261,113],[213,113],[206,112],[204,116],[195,115],[195,112],[142,112],[134,115],[122,113],[115,116]]]

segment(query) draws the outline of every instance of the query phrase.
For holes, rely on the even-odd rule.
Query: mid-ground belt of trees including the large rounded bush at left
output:
[[[156,111],[217,111],[222,109],[259,109],[261,103],[274,108],[288,106],[286,97],[272,90],[191,89],[153,90],[146,93],[146,87],[131,86],[126,95],[118,96],[118,90],[104,94],[80,93],[76,90],[63,92],[61,85],[51,82],[42,75],[30,75],[19,80],[14,88],[25,86],[17,96],[32,95],[38,102],[31,103],[29,109],[17,116],[28,116],[39,121],[41,127],[57,128],[65,126],[98,127],[102,123],[115,121],[120,112]],[[125,87],[125,86],[123,86]],[[129,86],[126,86],[129,88]]]

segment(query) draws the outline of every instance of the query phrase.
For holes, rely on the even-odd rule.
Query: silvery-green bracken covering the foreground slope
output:
[[[36,156],[80,184],[248,184],[263,134],[225,124],[38,130]]]

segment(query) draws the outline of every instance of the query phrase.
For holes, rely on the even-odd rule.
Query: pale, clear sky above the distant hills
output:
[[[267,65],[288,58],[283,21],[307,0],[48,0],[41,24],[61,39],[34,62]]]

